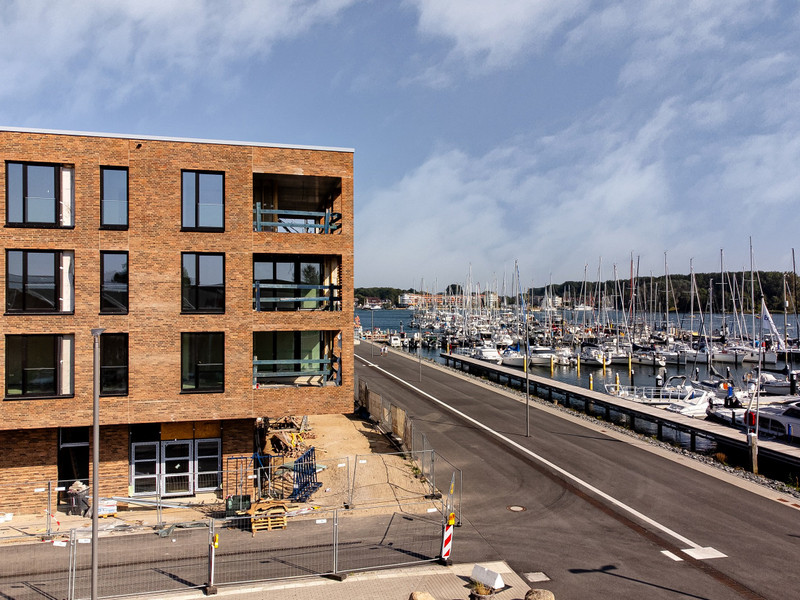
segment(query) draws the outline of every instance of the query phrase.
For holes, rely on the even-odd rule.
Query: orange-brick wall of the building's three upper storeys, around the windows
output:
[[[0,316],[4,334],[75,336],[75,397],[0,402],[0,431],[85,426],[92,420],[90,329],[129,333],[129,395],[100,400],[103,425],[203,419],[253,419],[286,414],[346,413],[353,403],[353,156],[350,152],[262,148],[79,135],[0,131],[0,214],[5,217],[5,161],[75,166],[75,228],[2,228],[3,246],[75,251],[75,314]],[[100,166],[129,169],[129,229],[100,230]],[[181,232],[181,169],[225,172],[225,232]],[[253,172],[342,178],[333,235],[254,233]],[[129,253],[130,311],[99,315],[100,250]],[[182,315],[180,254],[224,252],[226,311]],[[342,256],[341,312],[252,310],[252,254],[292,252]],[[5,254],[0,253],[5,298]],[[343,385],[253,390],[252,332],[334,330],[343,334]],[[225,332],[225,391],[180,393],[180,332]],[[0,369],[5,337],[0,335]],[[3,379],[4,382],[4,379]],[[53,461],[54,462],[54,461]]]

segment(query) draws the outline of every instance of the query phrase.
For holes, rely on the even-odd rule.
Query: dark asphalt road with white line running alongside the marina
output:
[[[463,471],[456,562],[505,560],[546,577],[536,586],[557,598],[800,597],[796,499],[537,402],[526,437],[524,401],[426,363],[420,381],[416,361],[368,343],[356,347],[356,376]]]

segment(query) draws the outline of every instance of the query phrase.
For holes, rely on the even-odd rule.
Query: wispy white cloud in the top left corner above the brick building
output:
[[[0,99],[49,93],[84,110],[183,97],[228,67],[329,22],[359,0],[25,0],[0,7]],[[24,51],[20,51],[24,49]]]

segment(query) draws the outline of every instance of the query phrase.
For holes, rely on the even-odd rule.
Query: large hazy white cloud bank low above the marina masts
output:
[[[750,237],[759,264],[785,268],[800,190],[797,118],[792,106],[771,106],[758,127],[731,123],[752,116],[737,90],[758,83],[750,99],[767,105],[798,82],[765,82],[762,69],[739,77],[635,114],[621,96],[552,135],[516,136],[483,154],[433,152],[359,211],[357,285],[416,287],[424,277],[444,287],[470,266],[487,282],[515,259],[537,285],[580,280],[600,260],[611,277],[631,253],[645,274],[663,272],[664,252],[671,272],[688,272],[691,258],[714,272],[720,248],[732,268],[749,264]]]

